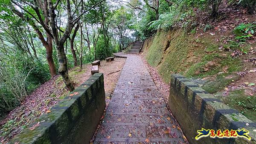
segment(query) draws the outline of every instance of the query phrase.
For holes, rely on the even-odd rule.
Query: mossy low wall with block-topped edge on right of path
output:
[[[256,123],[182,75],[172,75],[169,107],[191,144],[256,144]],[[197,130],[201,128],[215,132],[245,128],[249,130],[251,140],[217,137],[195,140]]]

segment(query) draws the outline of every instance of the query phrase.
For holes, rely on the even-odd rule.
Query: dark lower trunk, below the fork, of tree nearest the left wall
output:
[[[72,92],[75,88],[73,84],[71,83],[69,76],[68,76],[68,70],[67,70],[67,57],[65,55],[64,51],[64,43],[58,43],[57,44],[57,55],[58,55],[58,61],[59,61],[59,69],[58,72],[61,74],[62,79],[67,86],[67,89]]]

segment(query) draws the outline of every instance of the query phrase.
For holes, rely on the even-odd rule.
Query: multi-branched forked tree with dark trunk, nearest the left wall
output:
[[[59,63],[59,69],[58,72],[60,73],[65,85],[67,86],[67,89],[70,91],[74,90],[74,86],[70,81],[69,75],[68,75],[68,69],[67,69],[67,57],[65,55],[65,50],[64,50],[64,43],[66,42],[67,38],[70,36],[73,27],[76,25],[76,23],[80,20],[81,16],[88,12],[90,9],[93,9],[95,6],[97,6],[99,3],[102,3],[105,0],[101,0],[97,2],[95,5],[89,7],[87,10],[81,12],[80,14],[77,14],[77,10],[79,7],[83,5],[82,0],[76,1],[77,4],[74,6],[72,3],[70,3],[70,0],[66,0],[65,3],[61,3],[61,0],[56,0],[53,2],[52,0],[44,0],[44,4],[41,0],[33,0],[33,2],[29,1],[27,2],[26,0],[11,0],[13,4],[18,6],[20,9],[25,11],[27,14],[29,14],[31,19],[29,19],[29,22],[31,24],[31,21],[37,21],[44,29],[44,31],[47,33],[47,38],[49,40],[49,37],[51,37],[56,45],[56,51],[57,51],[57,56],[58,56],[58,63]],[[61,29],[58,29],[58,17],[55,14],[55,12],[58,12],[58,8],[63,7],[63,5],[66,8],[65,12],[65,17],[67,18],[67,22],[63,24],[64,26],[64,31]],[[44,6],[46,9],[45,13],[47,14],[44,15],[41,14],[40,8]],[[12,6],[14,7],[14,6]],[[29,10],[32,9],[33,12],[29,12]],[[41,8],[41,10],[44,10]],[[23,17],[25,20],[28,18],[24,17],[24,15],[17,11],[15,9],[15,12],[17,15],[21,14],[21,17]],[[49,17],[49,21],[44,20],[45,17]],[[47,18],[45,18],[47,19]],[[39,35],[39,39],[42,41],[42,43],[47,46],[52,44],[52,43],[47,43],[44,40],[44,37],[38,27],[35,25],[35,23],[32,23],[32,27],[35,29],[35,31]],[[59,35],[61,32],[63,32],[62,35]],[[50,39],[51,40],[51,39]]]

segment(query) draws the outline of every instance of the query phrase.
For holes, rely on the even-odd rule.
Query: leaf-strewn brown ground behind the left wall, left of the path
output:
[[[115,60],[108,63],[105,60],[101,61],[99,72],[104,74],[107,104],[110,101],[111,94],[113,93],[124,63],[125,58],[115,58]],[[69,71],[69,76],[75,87],[80,86],[91,76],[91,64],[86,64],[83,68],[84,69],[81,71],[79,70],[79,67]],[[68,93],[69,91],[64,86],[59,75],[56,75],[39,86],[38,89],[35,89],[35,91],[32,92],[19,107],[13,109],[5,119],[0,121],[0,143],[6,144],[41,115],[50,113],[50,108],[66,97]],[[70,94],[70,96],[72,95],[77,94],[74,92]],[[35,130],[41,122],[38,121],[37,124],[28,128],[30,130]]]

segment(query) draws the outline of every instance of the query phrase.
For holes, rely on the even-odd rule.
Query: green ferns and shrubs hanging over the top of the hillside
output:
[[[154,20],[155,13],[153,11],[146,12],[139,22],[140,33],[143,36],[149,37],[157,29],[169,30],[174,26],[182,26],[190,32],[196,25],[192,18],[195,16],[193,8],[202,10],[208,8],[208,0],[172,0],[172,2],[174,3],[172,6],[166,6],[166,2],[160,0],[160,8],[164,8],[161,8],[158,20]],[[209,28],[206,27],[206,30]]]

